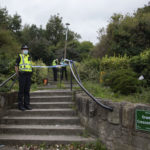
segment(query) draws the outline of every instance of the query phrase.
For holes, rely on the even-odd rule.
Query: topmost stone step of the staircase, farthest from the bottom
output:
[[[72,91],[70,90],[38,90],[35,92],[31,92],[30,96],[66,96],[72,95]]]

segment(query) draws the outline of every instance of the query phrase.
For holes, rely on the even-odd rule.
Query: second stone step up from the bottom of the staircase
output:
[[[0,125],[0,134],[22,135],[83,135],[84,128],[77,125]]]

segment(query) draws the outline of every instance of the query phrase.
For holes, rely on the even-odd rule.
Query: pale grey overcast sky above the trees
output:
[[[82,41],[98,42],[97,31],[107,27],[113,13],[132,14],[148,0],[0,0],[8,13],[18,13],[22,24],[42,25],[45,28],[51,15],[63,17],[63,23],[81,35]]]

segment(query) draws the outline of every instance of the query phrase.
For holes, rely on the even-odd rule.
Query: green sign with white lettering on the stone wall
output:
[[[136,129],[150,132],[150,111],[136,110],[135,113]]]

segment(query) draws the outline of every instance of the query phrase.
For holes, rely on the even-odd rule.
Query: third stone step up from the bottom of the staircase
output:
[[[16,125],[79,125],[78,117],[13,117],[5,116],[0,120],[1,124],[16,124]]]

